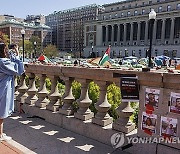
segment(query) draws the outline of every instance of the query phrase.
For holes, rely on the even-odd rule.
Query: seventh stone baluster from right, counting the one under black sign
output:
[[[37,101],[38,97],[37,94],[37,88],[36,88],[36,80],[35,80],[35,74],[34,73],[28,73],[29,76],[29,89],[27,91],[28,97],[26,99],[26,103],[30,105],[34,105],[34,103]]]

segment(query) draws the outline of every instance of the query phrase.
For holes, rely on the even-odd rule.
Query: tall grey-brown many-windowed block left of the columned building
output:
[[[93,4],[46,16],[46,25],[53,29],[53,44],[60,51],[81,54],[84,48],[85,22],[96,20],[102,11],[101,6]]]

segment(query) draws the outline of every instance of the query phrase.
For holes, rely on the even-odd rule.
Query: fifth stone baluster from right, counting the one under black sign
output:
[[[51,92],[49,94],[49,104],[47,105],[47,109],[53,112],[56,112],[59,109],[59,97],[60,93],[58,90],[58,76],[48,76],[51,80]]]

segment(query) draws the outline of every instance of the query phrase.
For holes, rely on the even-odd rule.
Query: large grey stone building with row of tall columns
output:
[[[180,0],[126,0],[103,6],[98,20],[85,25],[84,55],[102,55],[111,45],[112,57],[146,57],[149,12],[157,13],[152,55],[180,57]]]

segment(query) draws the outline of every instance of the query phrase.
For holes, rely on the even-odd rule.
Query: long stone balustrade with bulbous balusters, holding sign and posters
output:
[[[107,87],[111,83],[120,86],[120,78],[115,78],[114,74],[136,74],[138,76],[140,84],[140,110],[136,136],[144,137],[149,135],[142,130],[142,114],[146,111],[144,101],[145,89],[147,87],[160,90],[159,107],[155,109],[153,113],[158,117],[156,125],[157,131],[152,136],[160,136],[161,116],[174,117],[178,119],[178,123],[180,123],[179,114],[168,112],[170,92],[180,92],[180,74],[178,73],[163,74],[156,71],[140,72],[106,68],[27,65],[25,74],[21,76],[19,88],[15,92],[16,108],[19,110],[20,107],[30,115],[39,116],[65,129],[106,144],[111,144],[110,138],[112,134],[123,132],[126,135],[132,135],[135,132],[133,131],[135,130],[135,124],[129,121],[133,113],[130,102],[122,102],[120,104],[117,108],[119,118],[114,122],[113,118],[108,114],[111,105],[107,100]],[[29,77],[28,87],[25,83],[25,75]],[[40,79],[40,87],[38,89],[35,86],[36,76]],[[46,78],[49,78],[52,83],[50,92],[46,89]],[[65,83],[65,93],[63,96],[61,96],[58,91],[57,81],[59,79]],[[81,95],[78,100],[75,100],[72,94],[72,82],[74,80],[81,83]],[[96,115],[89,109],[92,100],[89,98],[88,85],[91,81],[94,81],[100,87],[100,96],[95,104],[97,109]],[[77,112],[74,112],[72,107],[74,101],[78,103],[79,109]],[[177,130],[177,136],[180,136],[179,125],[177,125]],[[163,146],[165,145],[164,143]],[[171,145],[171,147],[180,148],[178,144]],[[147,148],[143,148],[144,151],[147,151]],[[143,151],[135,150],[137,153]],[[148,150],[152,151],[152,148]],[[130,152],[132,151],[130,150]]]

